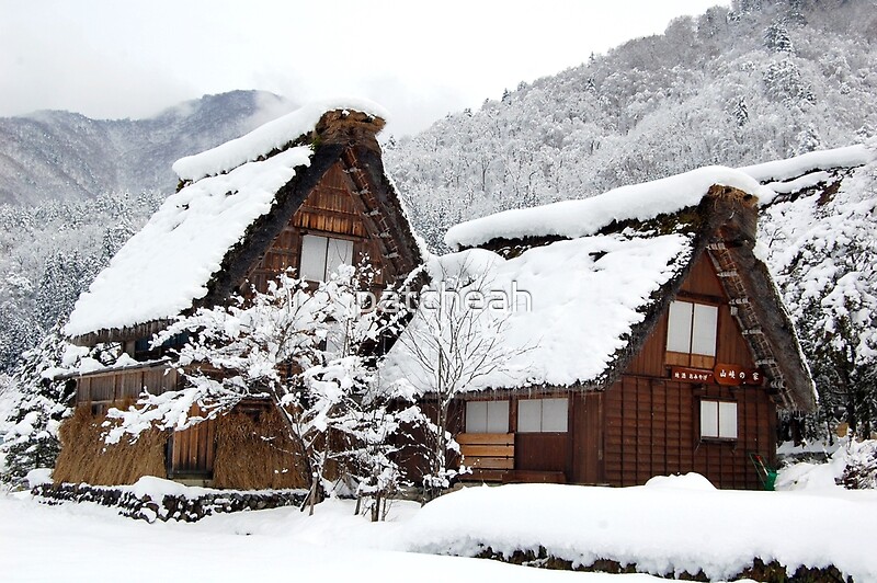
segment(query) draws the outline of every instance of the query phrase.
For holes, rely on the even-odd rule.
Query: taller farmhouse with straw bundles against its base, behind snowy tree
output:
[[[303,485],[280,415],[264,402],[181,432],[152,430],[105,446],[109,407],[181,387],[150,338],[181,313],[225,301],[287,267],[321,281],[369,258],[376,285],[422,263],[376,134],[381,110],[330,103],[293,112],[174,164],[178,192],[135,235],[76,305],[66,333],[78,344],[122,343],[111,368],[73,377],[76,414],[61,427],[57,482],[133,483],[151,475],[217,488]],[[172,344],[172,343],[171,343]],[[267,442],[274,441],[272,444]]]

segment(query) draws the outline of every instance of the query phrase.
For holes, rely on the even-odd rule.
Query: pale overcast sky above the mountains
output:
[[[146,117],[264,89],[369,98],[411,133],[717,0],[0,0],[0,116]]]

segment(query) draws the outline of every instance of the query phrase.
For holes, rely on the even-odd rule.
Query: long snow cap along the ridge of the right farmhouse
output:
[[[613,220],[648,220],[695,206],[714,184],[732,186],[766,203],[775,196],[749,174],[711,165],[651,182],[613,188],[580,201],[561,201],[533,208],[504,210],[448,229],[451,248],[476,247],[492,239],[559,236],[571,239],[593,235]]]

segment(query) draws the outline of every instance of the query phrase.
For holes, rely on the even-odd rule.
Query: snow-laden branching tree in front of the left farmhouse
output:
[[[175,363],[187,386],[111,409],[106,442],[136,439],[150,427],[183,430],[243,399],[263,399],[298,446],[311,512],[339,484],[379,504],[400,479],[392,437],[422,414],[410,392],[378,386],[375,350],[398,333],[406,313],[400,306],[363,309],[358,292],[372,288],[373,275],[365,262],[342,265],[316,287],[283,274],[265,293],[181,317],[153,345],[187,336]],[[191,415],[193,405],[202,414]]]

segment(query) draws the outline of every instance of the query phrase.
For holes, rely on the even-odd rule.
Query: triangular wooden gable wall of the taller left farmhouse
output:
[[[357,204],[356,192],[344,163],[339,160],[332,164],[252,268],[249,282],[257,289],[264,290],[267,282],[286,267],[297,268],[301,238],[307,233],[353,241],[354,262],[367,254],[373,265],[378,267],[380,273],[375,284],[392,281],[396,276],[394,267],[383,260],[378,241],[369,235],[366,222],[369,219],[363,215],[362,205]]]

